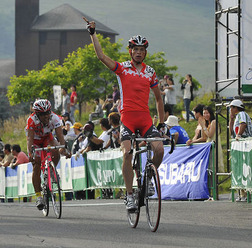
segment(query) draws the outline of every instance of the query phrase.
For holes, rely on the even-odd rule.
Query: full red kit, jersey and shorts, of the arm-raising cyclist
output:
[[[126,61],[116,62],[112,70],[117,75],[120,88],[120,112],[124,126],[121,130],[122,140],[130,139],[131,133],[137,129],[143,136],[147,135],[147,131],[148,134],[154,132],[156,133],[154,136],[159,136],[159,132],[152,124],[148,106],[150,88],[158,87],[158,79],[152,67],[144,63],[142,67],[138,72],[131,61]]]

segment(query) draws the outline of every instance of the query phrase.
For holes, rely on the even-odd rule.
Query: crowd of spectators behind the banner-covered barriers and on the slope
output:
[[[189,121],[190,115],[197,121],[194,136],[189,137],[186,128],[179,125],[180,117],[175,115],[176,106],[176,87],[172,77],[165,75],[160,80],[159,88],[163,96],[165,124],[167,129],[164,136],[173,135],[175,144],[186,144],[188,146],[193,143],[216,141],[216,121],[215,114],[211,107],[198,104],[190,110],[190,104],[194,99],[192,76],[187,74],[181,84],[183,90],[183,102],[186,111],[186,122]],[[120,92],[118,85],[113,85],[113,92],[109,94],[103,104],[99,98],[94,100],[95,111],[90,113],[89,121],[84,125],[75,122],[74,111],[77,104],[77,93],[75,85],[71,86],[71,97],[67,94],[67,88],[62,89],[62,130],[65,140],[69,144],[72,155],[75,159],[89,151],[96,151],[108,148],[120,147]],[[252,123],[249,115],[244,111],[244,105],[240,100],[233,100],[230,104],[230,135],[238,140],[239,138],[252,137]],[[31,109],[32,112],[32,109]],[[98,118],[102,133],[97,136],[95,133],[95,125],[92,122],[94,118]],[[158,125],[158,118],[154,116],[153,124]],[[218,172],[224,172],[223,152],[220,140],[221,127],[218,126]],[[167,144],[167,141],[164,142]],[[9,166],[15,169],[19,164],[28,163],[27,155],[21,151],[18,144],[3,144],[0,139],[0,167]],[[90,192],[89,192],[90,195]],[[91,193],[93,197],[93,192]],[[85,198],[83,192],[78,199]],[[239,191],[237,201],[246,201],[246,192]]]

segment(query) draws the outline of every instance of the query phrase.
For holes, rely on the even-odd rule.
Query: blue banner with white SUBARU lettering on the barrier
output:
[[[208,199],[207,168],[212,143],[177,146],[172,154],[165,147],[159,166],[161,196],[164,200]],[[144,170],[146,155],[142,154]]]

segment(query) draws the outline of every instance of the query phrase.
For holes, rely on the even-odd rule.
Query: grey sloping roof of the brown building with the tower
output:
[[[96,30],[101,33],[118,35],[118,33],[102,23],[94,20],[92,17],[73,8],[69,4],[63,4],[59,7],[38,16],[34,21],[32,31],[55,31],[55,30],[85,30],[86,24],[82,17],[93,20],[96,23]]]

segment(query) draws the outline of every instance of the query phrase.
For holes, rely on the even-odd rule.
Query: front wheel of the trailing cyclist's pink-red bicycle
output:
[[[57,219],[60,219],[62,213],[61,188],[59,182],[59,175],[53,163],[50,166],[50,176],[48,176],[48,180],[50,183],[49,189],[51,193],[53,210]]]

